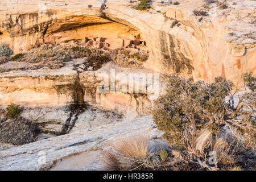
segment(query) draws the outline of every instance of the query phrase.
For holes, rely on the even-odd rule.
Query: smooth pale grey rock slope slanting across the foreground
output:
[[[102,151],[109,146],[109,142],[121,137],[143,134],[152,139],[161,137],[152,121],[151,116],[126,120],[109,125],[76,131],[59,137],[39,140],[23,146],[0,151],[1,170],[40,170],[49,169],[60,159],[81,154],[81,152]],[[41,151],[41,152],[40,152]],[[43,152],[42,152],[43,151]],[[40,152],[40,153],[39,153]],[[39,157],[45,155],[46,163],[40,163]],[[92,155],[92,162],[83,169],[102,169],[100,159]],[[92,163],[94,165],[92,165]],[[86,163],[85,163],[86,164]]]

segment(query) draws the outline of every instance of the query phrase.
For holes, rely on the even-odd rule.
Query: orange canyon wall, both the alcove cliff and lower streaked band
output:
[[[149,58],[144,72],[176,72],[208,82],[223,76],[236,85],[241,84],[243,73],[255,72],[255,1],[226,1],[227,9],[216,3],[205,6],[203,0],[179,2],[175,6],[153,1],[151,9],[140,11],[135,1],[1,1],[0,43],[9,44],[16,54],[43,44],[104,38],[110,49],[131,43],[146,47]],[[194,10],[204,10],[207,16],[195,16]],[[126,115],[147,113],[152,101],[143,95],[98,94],[96,72],[78,75],[73,64],[51,71],[0,73],[1,104],[86,102]],[[125,72],[138,71],[127,68]]]

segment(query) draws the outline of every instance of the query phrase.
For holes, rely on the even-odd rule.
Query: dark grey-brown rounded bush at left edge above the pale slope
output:
[[[35,140],[35,126],[22,117],[0,123],[0,141],[11,144],[26,144]]]

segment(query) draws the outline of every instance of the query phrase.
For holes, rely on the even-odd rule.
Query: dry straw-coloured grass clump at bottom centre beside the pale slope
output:
[[[112,143],[111,150],[105,151],[103,162],[113,170],[155,168],[159,157],[155,152],[148,152],[148,145],[148,138],[143,136],[119,139]]]

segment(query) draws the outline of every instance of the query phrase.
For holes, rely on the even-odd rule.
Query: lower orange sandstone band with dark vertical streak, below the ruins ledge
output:
[[[0,104],[8,105],[13,102],[38,107],[89,104],[118,111],[126,118],[150,113],[153,100],[148,100],[147,92],[136,94],[122,93],[118,90],[110,92],[109,90],[108,93],[101,93],[98,90],[98,84],[102,81],[101,73],[110,75],[110,69],[115,69],[115,75],[122,73],[127,78],[131,73],[153,73],[152,71],[119,68],[113,63],[107,63],[97,71],[77,70],[85,61],[86,58],[75,59],[59,69],[0,73]],[[126,82],[124,78],[115,81]],[[159,83],[159,92],[163,93],[164,76],[159,76]],[[65,122],[65,119],[62,122]]]

